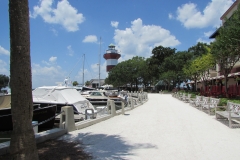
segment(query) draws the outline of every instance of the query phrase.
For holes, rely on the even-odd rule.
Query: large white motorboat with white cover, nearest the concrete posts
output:
[[[56,105],[57,113],[63,106],[72,106],[75,121],[84,120],[87,114],[96,118],[97,111],[93,105],[71,86],[43,86],[32,91],[33,103],[41,106]]]

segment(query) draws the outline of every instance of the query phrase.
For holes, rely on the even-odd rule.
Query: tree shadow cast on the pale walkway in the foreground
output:
[[[124,159],[125,156],[134,155],[133,151],[137,149],[157,149],[157,146],[149,143],[129,145],[118,135],[78,133],[78,135],[63,136],[61,139],[81,141],[84,151],[96,159]]]

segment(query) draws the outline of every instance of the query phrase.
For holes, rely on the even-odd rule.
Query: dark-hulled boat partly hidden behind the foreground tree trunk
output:
[[[46,123],[40,124],[38,130],[52,129],[54,127],[54,116],[56,113],[56,105],[41,106],[40,104],[33,105],[32,121],[37,123],[49,120]],[[52,118],[52,119],[50,119]],[[0,96],[0,132],[11,131],[12,115],[11,115],[11,94]]]

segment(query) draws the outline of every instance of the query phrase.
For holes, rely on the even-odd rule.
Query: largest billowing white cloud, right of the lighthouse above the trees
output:
[[[180,44],[170,31],[155,25],[143,25],[142,20],[131,22],[131,28],[116,29],[114,40],[124,60],[133,56],[149,57],[154,47],[175,47]],[[124,57],[123,57],[124,56]]]

